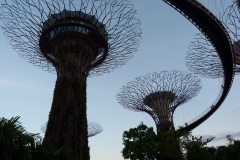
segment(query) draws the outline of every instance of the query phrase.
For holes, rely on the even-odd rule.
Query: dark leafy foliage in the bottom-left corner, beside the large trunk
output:
[[[71,160],[72,150],[68,146],[60,149],[42,145],[39,134],[28,133],[19,122],[19,116],[0,118],[1,160]]]

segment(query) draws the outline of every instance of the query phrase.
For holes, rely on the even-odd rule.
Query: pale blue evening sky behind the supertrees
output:
[[[212,12],[221,12],[229,0],[199,0]],[[103,132],[89,138],[92,160],[122,160],[124,131],[144,122],[155,123],[146,113],[133,112],[118,104],[120,88],[136,77],[165,70],[187,71],[185,56],[198,29],[185,17],[158,0],[132,0],[137,18],[141,20],[142,38],[138,51],[128,63],[113,72],[87,80],[87,116],[103,127]],[[217,3],[216,3],[217,2]],[[219,2],[219,3],[218,3]],[[2,22],[0,22],[2,24]],[[0,117],[21,116],[27,131],[41,133],[51,108],[56,75],[43,71],[21,58],[8,44],[0,30]],[[176,124],[184,124],[203,112],[216,100],[222,79],[202,79],[198,96],[176,110]],[[209,146],[225,145],[226,135],[240,139],[240,76],[235,76],[232,88],[222,106],[204,123],[193,130],[194,135],[214,135]]]

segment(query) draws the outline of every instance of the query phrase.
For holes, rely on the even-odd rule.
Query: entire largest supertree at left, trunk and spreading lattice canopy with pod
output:
[[[141,35],[126,0],[12,0],[1,5],[2,29],[30,63],[57,73],[45,145],[70,145],[89,159],[86,81],[124,65]]]

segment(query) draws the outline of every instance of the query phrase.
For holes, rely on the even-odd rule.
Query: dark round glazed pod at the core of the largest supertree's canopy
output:
[[[95,16],[82,11],[51,14],[42,24],[41,53],[58,74],[88,73],[108,55],[110,35],[105,28]]]

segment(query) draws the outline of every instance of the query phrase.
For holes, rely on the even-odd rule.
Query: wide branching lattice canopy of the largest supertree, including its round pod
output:
[[[86,63],[81,72],[101,75],[124,65],[139,45],[140,21],[127,0],[5,0],[0,11],[13,49],[49,72]]]

